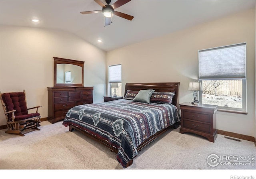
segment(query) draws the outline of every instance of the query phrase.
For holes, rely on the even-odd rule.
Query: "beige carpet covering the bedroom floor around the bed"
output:
[[[121,169],[116,153],[87,138],[70,132],[62,122],[41,123],[40,131],[24,137],[0,130],[0,169]],[[218,135],[212,143],[193,134],[170,129],[138,152],[130,169],[256,169],[252,165],[218,165],[210,167],[210,154],[251,156],[253,142],[224,139]]]

